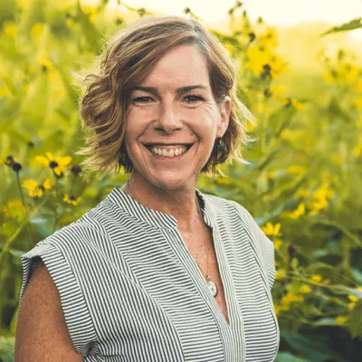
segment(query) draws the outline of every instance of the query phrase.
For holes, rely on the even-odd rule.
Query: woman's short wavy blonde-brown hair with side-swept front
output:
[[[82,129],[87,147],[76,152],[90,156],[82,167],[102,176],[110,171],[131,173],[133,165],[123,139],[129,95],[133,86],[146,78],[157,61],[178,45],[192,44],[205,55],[214,100],[221,104],[231,99],[229,125],[222,141],[224,148],[213,151],[201,172],[214,175],[215,167],[233,159],[249,164],[241,151],[252,140],[246,133],[246,121],[253,123],[252,114],[236,96],[236,74],[233,61],[222,43],[205,26],[194,19],[177,16],[147,17],[121,32],[113,34],[100,56],[99,74],[88,74],[81,98]]]

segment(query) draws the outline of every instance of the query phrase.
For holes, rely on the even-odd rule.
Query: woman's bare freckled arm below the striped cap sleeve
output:
[[[43,262],[37,262],[19,307],[14,362],[82,362],[71,343],[59,292]]]

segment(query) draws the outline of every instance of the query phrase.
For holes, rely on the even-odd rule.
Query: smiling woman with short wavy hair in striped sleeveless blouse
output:
[[[274,360],[273,245],[243,206],[195,188],[244,162],[227,52],[194,20],[146,19],[88,81],[81,153],[131,176],[22,256],[15,361]]]

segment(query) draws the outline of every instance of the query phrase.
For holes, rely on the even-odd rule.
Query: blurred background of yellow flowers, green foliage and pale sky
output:
[[[139,17],[203,22],[233,57],[256,117],[249,165],[201,176],[272,240],[279,362],[362,360],[362,1],[0,0],[0,361],[14,360],[20,255],[128,176],[99,179],[77,74]]]

